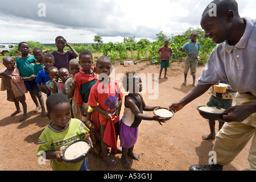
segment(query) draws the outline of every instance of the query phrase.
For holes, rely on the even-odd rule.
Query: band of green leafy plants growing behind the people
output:
[[[199,64],[206,64],[209,58],[210,53],[213,48],[216,47],[216,43],[212,39],[204,38],[204,31],[201,28],[193,29],[189,27],[181,35],[171,35],[168,37],[170,40],[169,46],[172,48],[171,60],[182,60],[187,56],[186,53],[179,51],[179,48],[185,43],[190,41],[190,35],[192,32],[197,33],[197,41],[201,45],[199,53]],[[148,39],[141,39],[138,43],[135,41],[128,41],[125,43],[105,43],[105,44],[79,44],[74,43],[71,46],[80,53],[82,50],[89,50],[92,53],[102,52],[104,56],[109,56],[110,59],[114,62],[115,60],[120,59],[142,59],[147,58],[150,63],[158,64],[160,63],[160,56],[158,54],[158,49],[164,45],[163,38],[167,38],[167,35],[163,34],[161,31],[158,35],[158,40],[155,42],[150,42]],[[135,39],[135,37],[133,37]],[[57,47],[54,44],[41,44],[39,42],[28,41],[27,42],[31,48],[39,47],[41,49],[49,49],[50,52],[56,51]],[[64,50],[70,50],[69,47],[65,47]],[[130,55],[128,53],[130,52]],[[18,50],[13,49],[7,55],[14,56]]]

